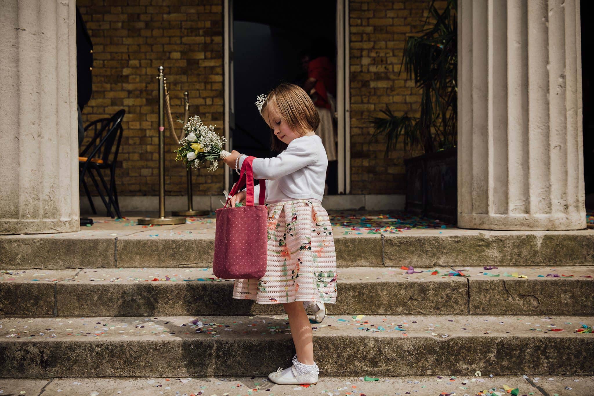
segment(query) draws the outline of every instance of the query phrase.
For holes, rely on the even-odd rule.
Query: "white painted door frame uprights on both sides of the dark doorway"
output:
[[[233,0],[224,0],[223,53],[225,74],[226,150],[233,147],[231,126],[235,123],[233,99]],[[338,191],[350,193],[350,84],[349,84],[349,0],[336,0],[336,47],[338,113]],[[232,169],[225,167],[225,189],[230,191]]]

